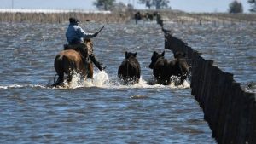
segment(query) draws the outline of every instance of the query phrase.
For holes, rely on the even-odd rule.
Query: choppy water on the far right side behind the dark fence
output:
[[[256,93],[256,25],[255,23],[208,23],[177,25],[169,23],[175,37],[202,53],[224,72],[234,74],[242,88]],[[247,84],[254,84],[247,89]]]

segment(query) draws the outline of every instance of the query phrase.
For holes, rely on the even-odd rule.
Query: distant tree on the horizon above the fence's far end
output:
[[[143,3],[150,9],[152,6],[155,7],[155,9],[163,9],[168,8],[168,3],[170,3],[169,0],[139,0],[139,3]]]

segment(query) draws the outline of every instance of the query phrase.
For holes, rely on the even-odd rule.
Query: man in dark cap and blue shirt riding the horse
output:
[[[66,32],[66,38],[68,44],[73,47],[74,49],[78,49],[81,55],[83,55],[84,60],[86,60],[86,57],[84,56],[87,54],[90,60],[98,67],[100,71],[104,70],[106,66],[103,66],[102,63],[100,63],[98,60],[96,60],[96,56],[93,54],[93,48],[92,45],[89,45],[84,42],[84,39],[90,39],[93,37],[96,37],[98,35],[98,32],[96,33],[86,33],[84,30],[79,26],[79,20],[76,18],[69,18],[69,26],[67,28]]]

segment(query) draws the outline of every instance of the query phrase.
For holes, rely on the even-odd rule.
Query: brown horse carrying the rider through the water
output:
[[[87,40],[85,43],[92,45],[90,40]],[[88,54],[86,53],[83,56],[78,50],[74,49],[62,50],[58,55],[56,55],[55,71],[59,77],[57,81],[52,84],[54,87],[63,84],[64,73],[67,74],[68,83],[72,81],[74,72],[79,73],[84,79],[93,77],[93,65],[90,60],[88,60]]]

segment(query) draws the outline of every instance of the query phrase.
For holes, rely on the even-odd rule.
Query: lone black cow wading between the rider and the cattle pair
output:
[[[125,52],[125,60],[119,66],[118,76],[125,84],[137,84],[141,77],[141,67],[136,55],[137,53]]]

